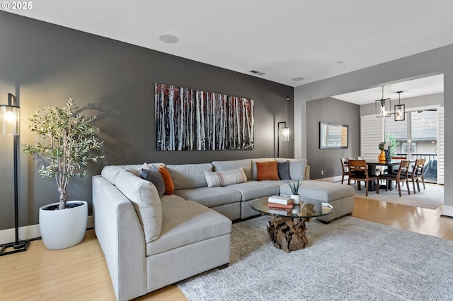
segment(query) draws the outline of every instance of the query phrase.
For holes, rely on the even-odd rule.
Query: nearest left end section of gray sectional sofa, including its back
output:
[[[159,201],[153,214],[161,209],[161,223],[155,216],[145,221],[138,202],[131,199],[154,197],[154,185],[125,169],[110,169],[108,174],[110,180],[93,177],[93,213],[117,300],[130,300],[229,263],[229,218],[199,203],[164,195],[153,200]],[[134,192],[134,187],[145,187],[145,192]],[[155,233],[147,227],[154,226],[159,233],[147,237]]]

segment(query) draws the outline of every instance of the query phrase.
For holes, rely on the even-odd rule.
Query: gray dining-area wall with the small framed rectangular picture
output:
[[[319,122],[348,125],[348,148],[320,149]],[[306,102],[306,137],[310,179],[341,175],[340,158],[360,155],[360,105],[335,98]]]

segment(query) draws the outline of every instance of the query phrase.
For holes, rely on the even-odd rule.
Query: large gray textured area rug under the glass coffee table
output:
[[[453,300],[453,242],[346,216],[285,253],[268,217],[235,223],[231,263],[178,283],[189,300]]]

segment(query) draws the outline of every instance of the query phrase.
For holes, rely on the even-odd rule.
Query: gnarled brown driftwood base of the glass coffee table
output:
[[[277,249],[291,252],[304,249],[307,244],[305,228],[310,218],[270,216],[268,233]]]

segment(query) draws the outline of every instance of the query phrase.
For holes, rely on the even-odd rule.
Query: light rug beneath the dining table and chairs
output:
[[[401,197],[398,194],[398,189],[392,190],[380,189],[379,194],[376,191],[369,191],[368,196],[365,196],[365,185],[362,183],[362,190],[357,190],[356,184],[351,184],[354,187],[354,195],[365,199],[373,199],[376,201],[386,201],[388,203],[398,203],[400,205],[414,206],[428,209],[435,209],[444,202],[444,187],[437,184],[426,184],[426,189],[423,189],[423,184],[420,184],[420,192],[413,194],[412,182],[409,183],[411,195],[408,195],[406,184],[401,187]],[[415,189],[417,187],[415,186]]]

